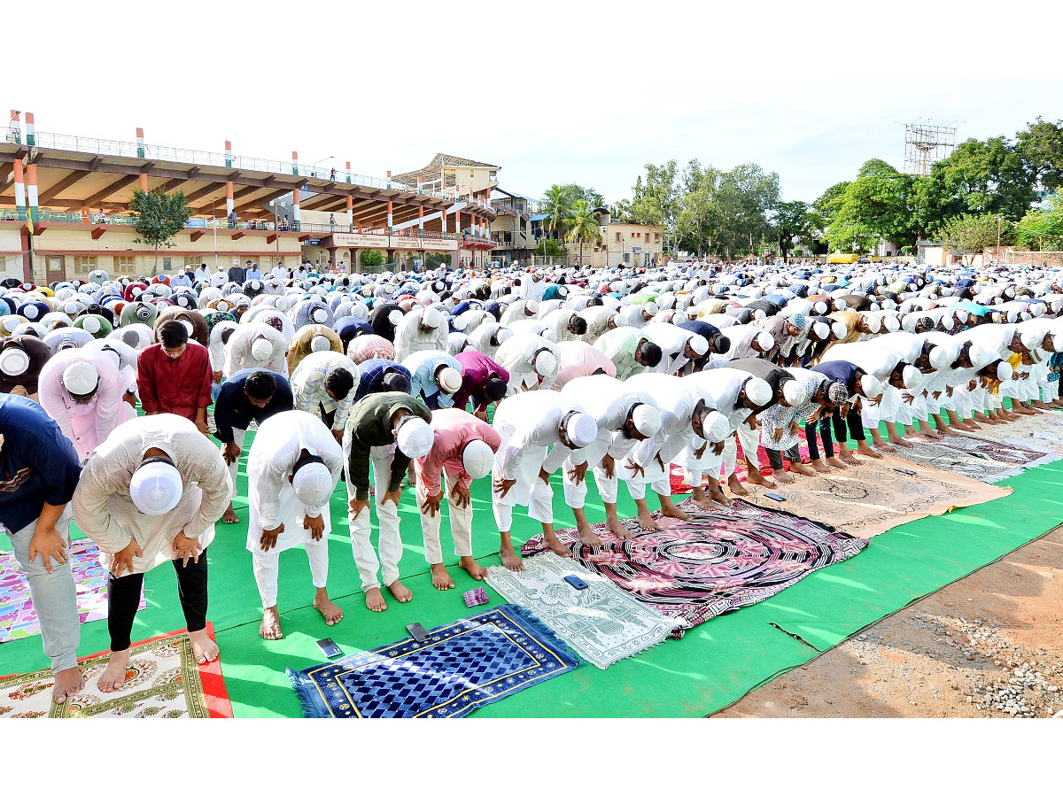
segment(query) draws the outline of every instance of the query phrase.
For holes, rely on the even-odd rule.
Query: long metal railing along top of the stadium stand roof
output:
[[[337,169],[336,176],[333,180],[332,169],[317,169],[292,160],[270,160],[268,158],[248,157],[246,155],[229,155],[224,152],[205,152],[203,150],[188,150],[178,147],[138,145],[135,141],[112,141],[105,138],[70,136],[62,133],[37,133],[35,146],[40,149],[66,150],[87,155],[163,160],[175,164],[192,164],[195,166],[214,166],[221,169],[242,169],[271,174],[298,174],[302,177],[325,180],[335,183],[351,183],[369,188],[418,193],[417,186],[408,186],[388,177],[371,177],[366,174],[356,174],[347,169]],[[420,196],[439,200],[453,200],[455,192],[423,189]]]

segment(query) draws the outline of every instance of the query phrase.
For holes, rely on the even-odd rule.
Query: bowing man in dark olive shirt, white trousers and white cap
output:
[[[399,498],[402,479],[411,458],[432,450],[432,412],[408,393],[372,393],[354,405],[343,430],[343,460],[349,499],[351,548],[358,566],[366,606],[387,609],[377,573],[400,603],[414,594],[399,580],[402,537],[399,533]],[[379,558],[369,540],[369,463],[373,463]]]

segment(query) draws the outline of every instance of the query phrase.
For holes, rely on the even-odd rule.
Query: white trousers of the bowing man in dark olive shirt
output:
[[[347,470],[350,462],[351,433],[343,436],[343,468]],[[381,504],[384,493],[388,491],[391,481],[391,462],[394,459],[395,446],[374,445],[369,452],[369,461],[373,471],[373,486],[376,494],[369,498],[369,507],[366,507],[355,518],[348,504],[347,522],[351,529],[351,549],[354,553],[354,563],[358,566],[358,577],[361,579],[362,591],[378,589],[381,581],[377,573],[383,577],[385,584],[390,584],[399,578],[399,562],[402,559],[402,537],[399,533],[399,508],[390,501]],[[351,474],[347,473],[348,499],[354,497],[354,487],[351,482]],[[379,558],[376,549],[369,539],[370,520],[369,511],[371,507],[376,508],[376,522],[379,528]]]

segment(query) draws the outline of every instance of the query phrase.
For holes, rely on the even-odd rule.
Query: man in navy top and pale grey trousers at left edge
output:
[[[36,402],[0,395],[0,524],[30,582],[45,656],[62,703],[85,685],[78,668],[81,621],[67,549],[81,465],[73,445]]]

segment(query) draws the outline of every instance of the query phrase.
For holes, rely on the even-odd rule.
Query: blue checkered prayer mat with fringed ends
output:
[[[308,717],[456,717],[577,666],[538,617],[505,604],[433,628],[425,642],[287,674]]]

